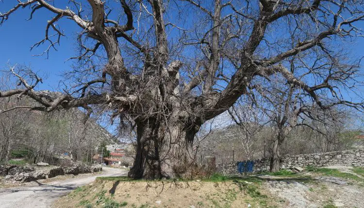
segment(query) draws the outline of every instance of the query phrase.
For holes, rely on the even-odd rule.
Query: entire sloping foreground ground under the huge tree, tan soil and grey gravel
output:
[[[340,171],[331,173],[330,168]],[[364,208],[364,168],[356,173],[350,167],[337,166],[320,171],[222,181],[98,178],[62,197],[53,207]]]

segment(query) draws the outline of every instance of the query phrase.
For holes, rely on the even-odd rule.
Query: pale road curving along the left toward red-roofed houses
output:
[[[47,208],[62,195],[77,187],[91,183],[99,176],[127,176],[123,169],[102,167],[102,173],[97,176],[71,178],[50,183],[39,183],[37,186],[23,186],[0,189],[1,208]]]

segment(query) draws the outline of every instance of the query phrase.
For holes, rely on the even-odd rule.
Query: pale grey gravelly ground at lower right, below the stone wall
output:
[[[335,167],[336,168],[336,167]],[[281,208],[364,208],[364,187],[343,178],[313,176],[310,181],[295,178],[268,178],[262,185],[281,198]]]

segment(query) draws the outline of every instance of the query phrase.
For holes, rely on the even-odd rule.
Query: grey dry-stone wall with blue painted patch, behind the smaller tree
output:
[[[269,170],[270,158],[253,161],[237,161],[216,164],[216,172],[223,175],[239,176]],[[328,165],[364,166],[364,149],[286,155],[281,159],[281,168],[322,167]]]

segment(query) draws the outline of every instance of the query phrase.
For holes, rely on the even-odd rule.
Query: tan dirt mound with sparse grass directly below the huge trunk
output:
[[[55,208],[164,207],[205,208],[265,207],[267,196],[247,181],[144,181],[97,179],[62,197]]]

